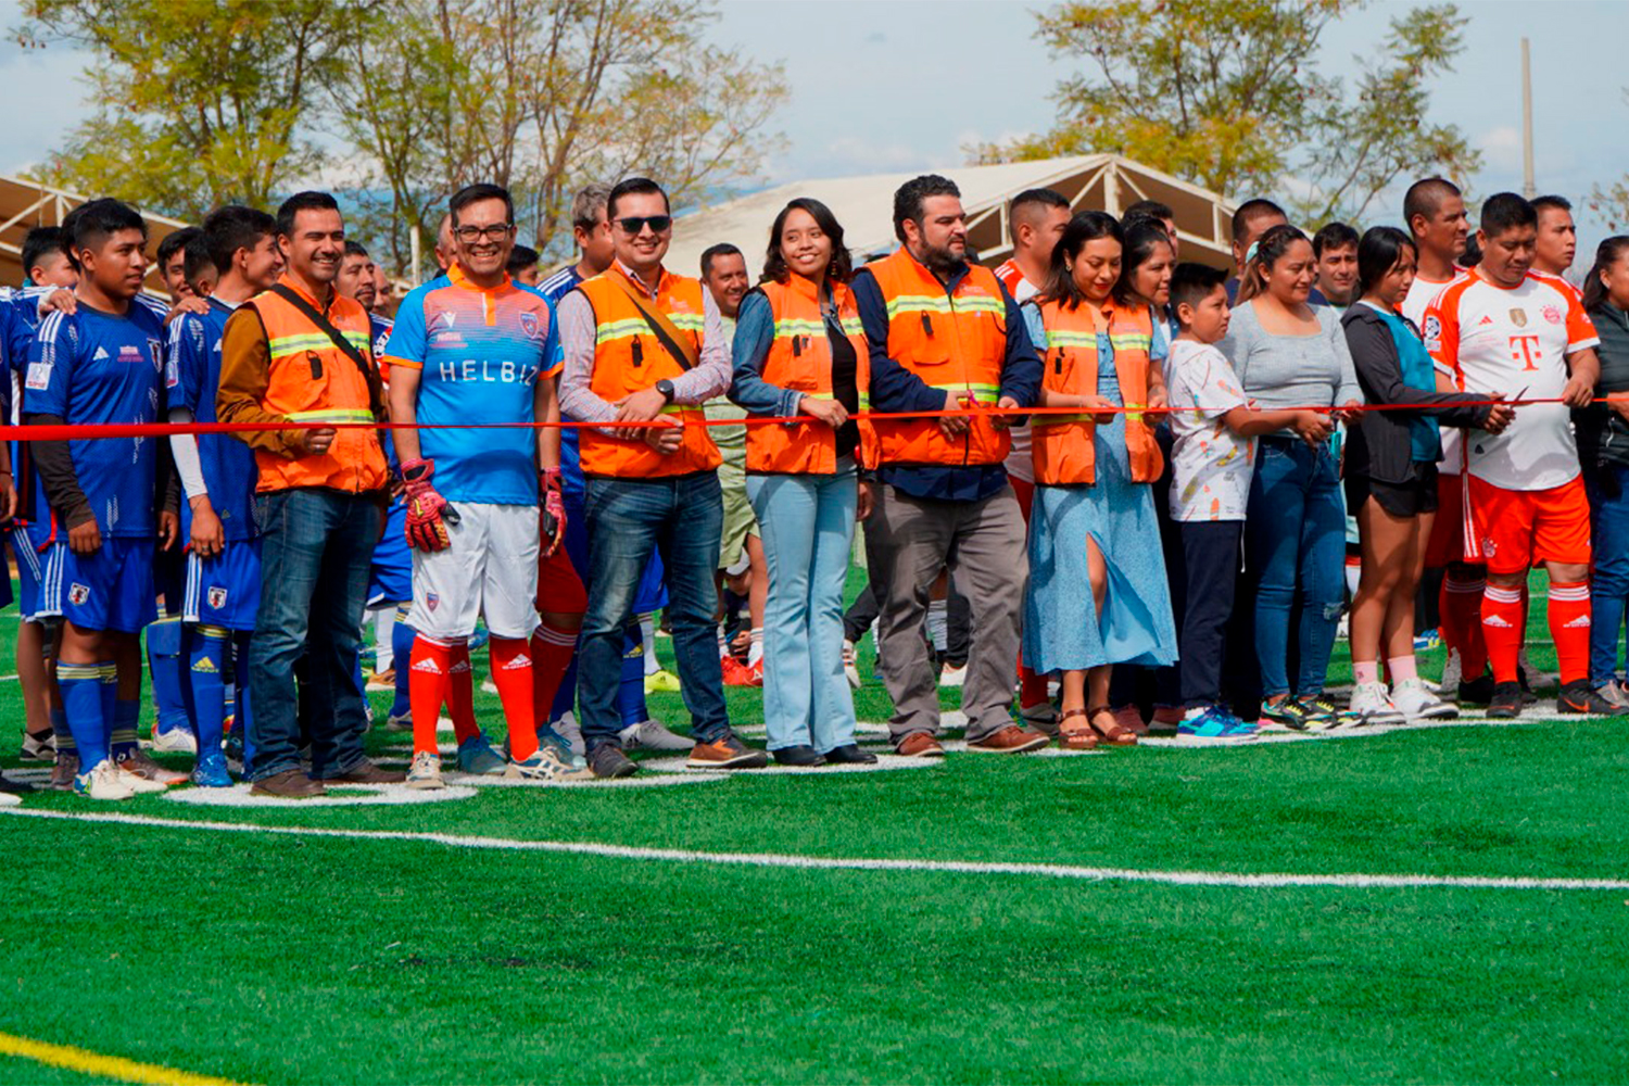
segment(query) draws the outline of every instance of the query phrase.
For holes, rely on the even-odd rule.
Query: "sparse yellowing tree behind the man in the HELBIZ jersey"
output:
[[[389,0],[329,80],[332,130],[362,151],[352,194],[407,269],[446,195],[510,189],[534,244],[564,256],[573,192],[640,171],[683,205],[754,177],[787,88],[702,41],[702,0]]]

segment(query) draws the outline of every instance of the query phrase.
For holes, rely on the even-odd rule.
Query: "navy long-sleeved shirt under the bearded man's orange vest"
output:
[[[966,275],[968,265],[958,265],[948,280],[942,280],[945,290],[955,290]],[[888,304],[883,301],[883,290],[876,285],[876,278],[862,267],[849,287],[854,290],[854,300],[860,308],[860,324],[865,327],[865,339],[872,348],[872,410],[943,410],[945,394],[942,391],[929,388],[922,378],[888,357]],[[1013,301],[1005,287],[1002,287],[1002,300],[1007,303],[1007,355],[1002,360],[1000,396],[1012,396],[1020,407],[1034,407],[1041,392],[1041,357],[1034,353],[1034,344],[1030,342],[1018,303]],[[1000,464],[969,467],[883,464],[876,477],[914,498],[938,501],[981,501],[1007,485],[1007,469]]]

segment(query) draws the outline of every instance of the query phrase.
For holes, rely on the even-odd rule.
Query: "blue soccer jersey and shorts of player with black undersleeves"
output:
[[[26,410],[68,425],[155,423],[165,368],[165,326],[132,304],[125,316],[80,304],[52,313],[28,352]],[[68,441],[73,474],[103,536],[151,539],[155,438]]]

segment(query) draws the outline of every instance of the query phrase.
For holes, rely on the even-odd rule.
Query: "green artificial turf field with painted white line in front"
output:
[[[875,682],[858,707],[888,713]],[[1624,1081],[1626,726],[1543,708],[424,806],[36,795],[0,811],[0,1052],[243,1083]],[[99,1078],[0,1055],[0,1083]]]

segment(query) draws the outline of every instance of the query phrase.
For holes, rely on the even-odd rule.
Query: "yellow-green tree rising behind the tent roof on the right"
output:
[[[1243,199],[1293,189],[1303,221],[1362,218],[1404,171],[1479,164],[1453,125],[1427,120],[1424,80],[1451,67],[1451,3],[1391,20],[1378,59],[1354,59],[1355,93],[1316,67],[1324,31],[1365,0],[1075,0],[1036,36],[1087,72],[1057,93],[1057,125],[981,161],[1114,151]]]

